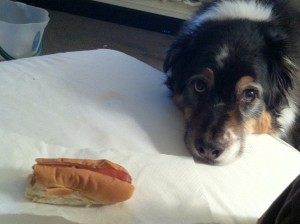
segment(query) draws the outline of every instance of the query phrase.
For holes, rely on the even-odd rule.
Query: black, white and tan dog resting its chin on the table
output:
[[[193,157],[233,161],[250,134],[271,134],[299,150],[299,62],[300,13],[291,2],[203,3],[163,66]]]

